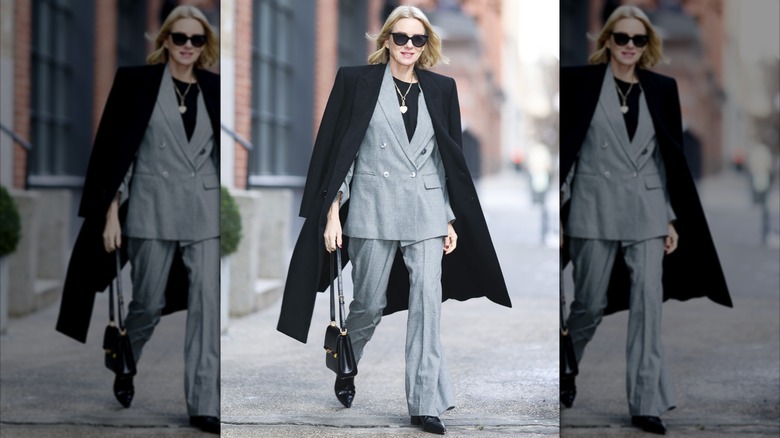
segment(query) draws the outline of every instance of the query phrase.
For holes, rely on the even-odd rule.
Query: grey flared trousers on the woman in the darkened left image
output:
[[[126,326],[136,361],[165,306],[165,286],[180,243],[129,238],[133,300]],[[189,276],[184,339],[184,394],[189,415],[219,417],[219,239],[181,246]]]

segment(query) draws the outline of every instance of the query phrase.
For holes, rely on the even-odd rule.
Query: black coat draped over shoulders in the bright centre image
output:
[[[323,233],[327,210],[360,148],[379,98],[385,65],[339,69],[314,143],[300,215],[304,221],[295,244],[277,329],[306,342],[317,291],[330,284]],[[415,70],[430,112],[436,141],[447,174],[447,190],[456,220],[458,248],[442,260],[443,300],[487,297],[511,307],[509,293],[485,223],[477,191],[463,157],[460,106],[455,81],[426,70]],[[349,201],[340,210],[344,223]],[[341,249],[348,261],[349,238]],[[387,287],[384,314],[408,309],[409,273],[396,255]],[[323,326],[327,321],[322,321]]]

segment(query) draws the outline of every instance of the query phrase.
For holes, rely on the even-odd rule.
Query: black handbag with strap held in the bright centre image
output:
[[[336,249],[330,254],[330,324],[325,329],[325,365],[338,378],[346,379],[357,375],[355,353],[352,351],[352,341],[347,334],[347,319],[344,317],[344,289],[341,282],[341,251]],[[339,323],[336,323],[336,292],[333,290],[333,259],[337,260],[339,285]]]

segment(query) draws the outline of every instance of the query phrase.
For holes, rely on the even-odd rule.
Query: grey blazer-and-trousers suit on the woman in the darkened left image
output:
[[[185,394],[190,415],[219,416],[219,177],[203,96],[188,141],[165,69],[157,103],[127,183],[124,234],[132,265],[127,331],[136,359],[160,320],[178,249],[188,271]],[[129,188],[128,188],[129,186]],[[124,196],[124,195],[123,195]]]

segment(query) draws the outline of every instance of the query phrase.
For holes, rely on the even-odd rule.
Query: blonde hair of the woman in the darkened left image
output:
[[[147,64],[164,64],[168,62],[168,50],[163,44],[168,35],[171,34],[173,24],[182,18],[198,20],[206,34],[206,45],[203,46],[203,51],[198,56],[198,60],[195,61],[195,67],[211,67],[219,61],[219,37],[217,37],[217,33],[214,32],[203,12],[195,6],[177,6],[168,14],[160,28],[160,32],[154,38],[154,51],[146,57]]]

